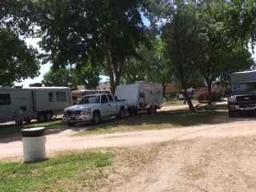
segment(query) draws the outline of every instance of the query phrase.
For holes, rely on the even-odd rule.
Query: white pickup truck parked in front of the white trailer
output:
[[[117,100],[111,94],[89,94],[82,96],[76,105],[67,107],[63,120],[68,126],[74,126],[78,122],[97,125],[104,118],[125,118],[126,110],[126,99]]]

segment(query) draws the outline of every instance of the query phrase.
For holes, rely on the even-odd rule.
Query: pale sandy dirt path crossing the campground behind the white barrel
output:
[[[59,150],[166,142],[158,158],[111,191],[256,191],[256,119],[214,119],[177,130],[71,137],[78,129],[47,130],[46,155]],[[56,133],[55,133],[56,131]],[[0,139],[0,159],[22,158],[22,138]]]

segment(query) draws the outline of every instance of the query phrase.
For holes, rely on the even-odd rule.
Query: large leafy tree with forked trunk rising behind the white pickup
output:
[[[126,58],[146,43],[140,0],[38,1],[40,46],[54,67],[100,63],[110,77],[111,91],[120,82]],[[46,61],[47,61],[46,60]]]

